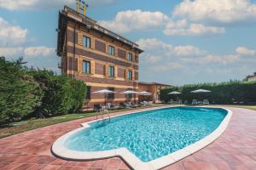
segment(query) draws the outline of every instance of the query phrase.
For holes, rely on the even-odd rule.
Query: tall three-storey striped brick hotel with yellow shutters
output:
[[[88,107],[103,105],[106,100],[115,105],[131,100],[131,95],[120,92],[138,88],[138,61],[143,50],[135,42],[68,7],[59,13],[57,31],[61,73],[86,83]],[[92,93],[102,89],[116,93]]]

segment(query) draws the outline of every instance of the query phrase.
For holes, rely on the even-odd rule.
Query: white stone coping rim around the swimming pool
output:
[[[148,110],[143,110],[143,111],[154,111],[158,109],[172,108],[172,107],[179,107],[179,106],[168,105],[168,106],[150,108]],[[183,107],[186,107],[186,106],[183,106]],[[72,161],[92,161],[92,160],[105,159],[105,158],[118,156],[118,157],[121,157],[132,169],[155,170],[155,169],[167,167],[172,163],[180,161],[184,157],[190,156],[194,154],[196,151],[205,148],[207,145],[211,144],[214,140],[218,139],[218,137],[222,133],[224,133],[224,130],[228,127],[230,118],[232,116],[232,111],[224,107],[209,107],[209,106],[198,106],[198,107],[219,108],[219,109],[224,109],[225,111],[228,111],[228,113],[224,117],[224,120],[219,124],[219,126],[212,133],[207,135],[205,138],[195,142],[194,144],[190,144],[181,150],[172,152],[167,156],[161,156],[160,158],[154,159],[152,161],[143,162],[126,148],[119,148],[115,150],[104,150],[104,151],[67,150],[64,144],[70,135],[73,135],[73,133],[77,133],[81,130],[84,130],[85,128],[90,127],[89,125],[90,123],[97,122],[98,120],[81,123],[82,127],[79,127],[69,133],[64,134],[63,136],[61,136],[59,139],[55,141],[55,143],[51,147],[51,151],[55,156],[61,157],[66,160],[72,160]],[[128,113],[117,115],[117,116],[130,115],[130,114],[135,114],[143,111],[131,111]],[[117,117],[117,116],[112,116],[112,117]],[[108,118],[105,118],[105,119],[108,119]]]

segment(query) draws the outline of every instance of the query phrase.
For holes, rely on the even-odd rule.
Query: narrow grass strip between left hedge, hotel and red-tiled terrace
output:
[[[156,107],[160,105],[153,105],[152,107]],[[137,108],[138,109],[138,108]],[[119,112],[119,111],[133,111],[136,109],[125,109],[125,110],[114,110],[109,111],[109,113]],[[46,119],[30,119],[22,122],[15,122],[9,127],[0,127],[0,139],[4,137],[8,137],[14,135],[16,133],[23,133],[29,130],[33,130],[39,127],[47,127],[49,125],[57,124],[60,122],[69,122],[77,119],[82,119],[89,116],[96,116],[95,111],[90,112],[80,112],[76,114],[68,114],[63,116],[55,116]]]

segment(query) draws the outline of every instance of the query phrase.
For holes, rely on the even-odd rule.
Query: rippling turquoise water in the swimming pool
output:
[[[125,147],[141,161],[151,161],[193,144],[212,133],[227,111],[212,108],[174,107],[93,122],[74,133],[69,150],[102,151]]]

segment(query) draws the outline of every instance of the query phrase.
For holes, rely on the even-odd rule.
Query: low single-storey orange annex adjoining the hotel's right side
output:
[[[163,88],[170,88],[170,85],[157,82],[139,82],[138,89],[140,92],[146,91],[151,93],[151,96],[139,96],[139,101],[151,100],[154,103],[160,103],[160,90]]]

